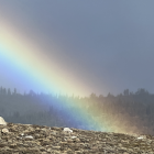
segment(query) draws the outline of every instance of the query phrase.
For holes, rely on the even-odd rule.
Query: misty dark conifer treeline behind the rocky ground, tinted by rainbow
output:
[[[75,103],[77,106],[75,106]],[[105,125],[120,127],[129,133],[154,135],[154,95],[145,89],[130,92],[125,89],[122,94],[113,96],[68,97],[53,96],[52,94],[21,95],[16,89],[11,91],[0,88],[0,116],[8,122],[38,124],[48,127],[69,127],[77,129],[96,129],[96,123],[84,125],[74,122],[74,118],[65,117],[63,112],[85,108],[85,114],[90,113],[90,119],[103,118]],[[97,111],[99,111],[97,113]],[[74,114],[77,116],[77,114]]]

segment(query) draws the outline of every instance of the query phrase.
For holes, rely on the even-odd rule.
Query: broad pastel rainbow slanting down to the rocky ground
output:
[[[73,94],[77,96],[86,95],[88,87],[74,77],[69,70],[66,72],[63,68],[63,64],[58,58],[52,53],[56,52],[56,48],[51,46],[51,55],[46,55],[43,52],[43,47],[35,41],[29,40],[25,33],[16,28],[13,28],[10,23],[1,20],[0,23],[0,69],[6,76],[4,81],[12,85],[19,85],[22,89],[29,89],[33,87],[34,90],[41,89],[43,91],[50,91],[51,94],[62,94],[72,96]],[[52,57],[52,59],[51,59]],[[108,114],[105,117],[99,117],[102,113],[101,109],[94,106],[94,109],[85,113],[86,105],[76,102],[73,100],[76,110],[70,111],[64,108],[63,113],[67,117],[73,117],[74,121],[79,121],[85,125],[91,125],[95,123],[94,130],[107,131],[107,132],[123,132],[127,130],[114,124],[116,121]],[[53,105],[54,108],[59,108],[61,105]],[[66,105],[69,106],[69,105]],[[81,106],[81,108],[78,108]],[[110,113],[110,112],[109,112]],[[97,116],[97,119],[92,119],[92,116]],[[123,118],[128,121],[127,118]],[[90,129],[90,128],[86,128]]]

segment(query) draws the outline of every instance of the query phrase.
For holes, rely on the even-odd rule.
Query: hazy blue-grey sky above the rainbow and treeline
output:
[[[154,92],[153,16],[153,0],[0,0],[0,18],[41,36],[44,54],[54,44],[65,69],[98,95]]]

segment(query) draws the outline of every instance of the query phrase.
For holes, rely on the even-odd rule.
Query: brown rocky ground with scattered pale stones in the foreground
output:
[[[154,136],[8,123],[0,154],[154,154]]]

